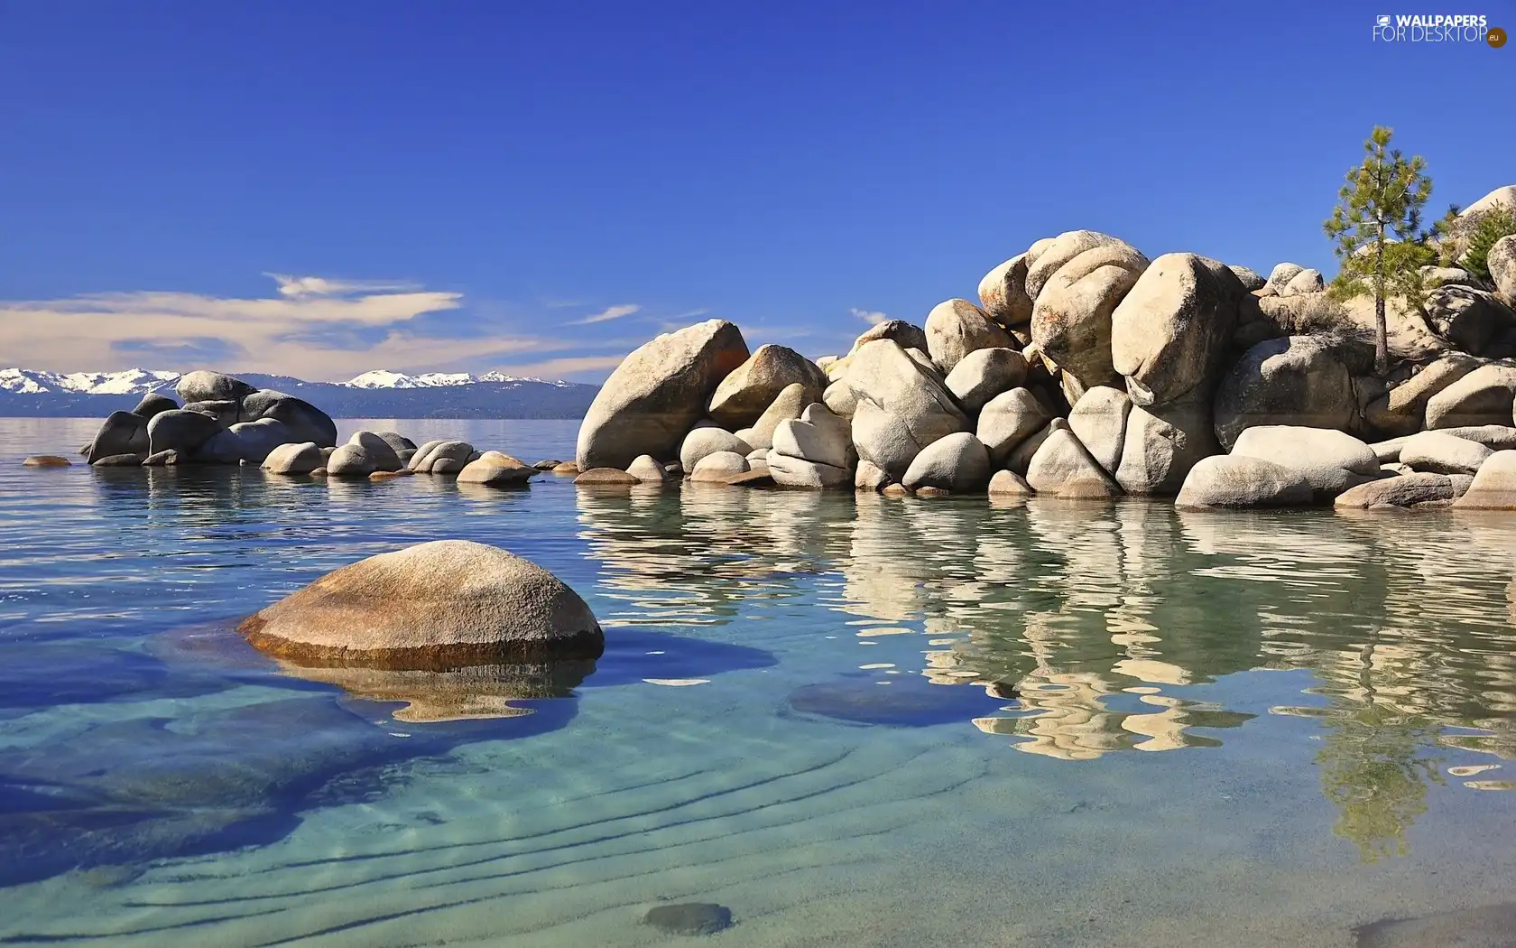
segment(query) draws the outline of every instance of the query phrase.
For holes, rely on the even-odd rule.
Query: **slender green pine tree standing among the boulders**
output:
[[[1422,306],[1427,288],[1420,267],[1436,253],[1420,229],[1420,211],[1431,197],[1427,159],[1407,159],[1390,150],[1392,129],[1375,126],[1363,143],[1363,164],[1348,171],[1337,193],[1339,203],[1322,224],[1337,241],[1333,252],[1342,270],[1333,281],[1339,296],[1373,294],[1373,367],[1380,375],[1390,369],[1389,325],[1384,300],[1402,296]]]

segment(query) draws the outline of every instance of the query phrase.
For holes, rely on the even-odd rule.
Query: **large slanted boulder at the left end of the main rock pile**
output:
[[[643,454],[673,457],[716,387],[744,361],[747,343],[725,320],[667,332],[635,349],[600,387],[579,425],[579,469],[625,470]]]

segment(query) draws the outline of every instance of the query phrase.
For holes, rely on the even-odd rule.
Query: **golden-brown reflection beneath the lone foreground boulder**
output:
[[[364,667],[309,667],[280,663],[285,673],[335,684],[353,698],[400,701],[396,720],[411,724],[470,717],[520,717],[531,707],[512,704],[540,698],[568,698],[594,673],[594,660],[537,664],[484,664],[449,670],[388,670]]]

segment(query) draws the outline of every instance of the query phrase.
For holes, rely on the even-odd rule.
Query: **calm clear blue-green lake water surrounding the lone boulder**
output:
[[[1516,519],[20,467],[96,425],[0,419],[0,943],[659,945],[691,901],[734,946],[1511,943]],[[605,657],[232,633],[444,537]]]

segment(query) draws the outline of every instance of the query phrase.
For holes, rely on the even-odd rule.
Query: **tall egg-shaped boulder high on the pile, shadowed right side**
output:
[[[1173,402],[1216,378],[1242,296],[1237,275],[1216,261],[1152,261],[1111,314],[1111,364],[1132,402]]]

